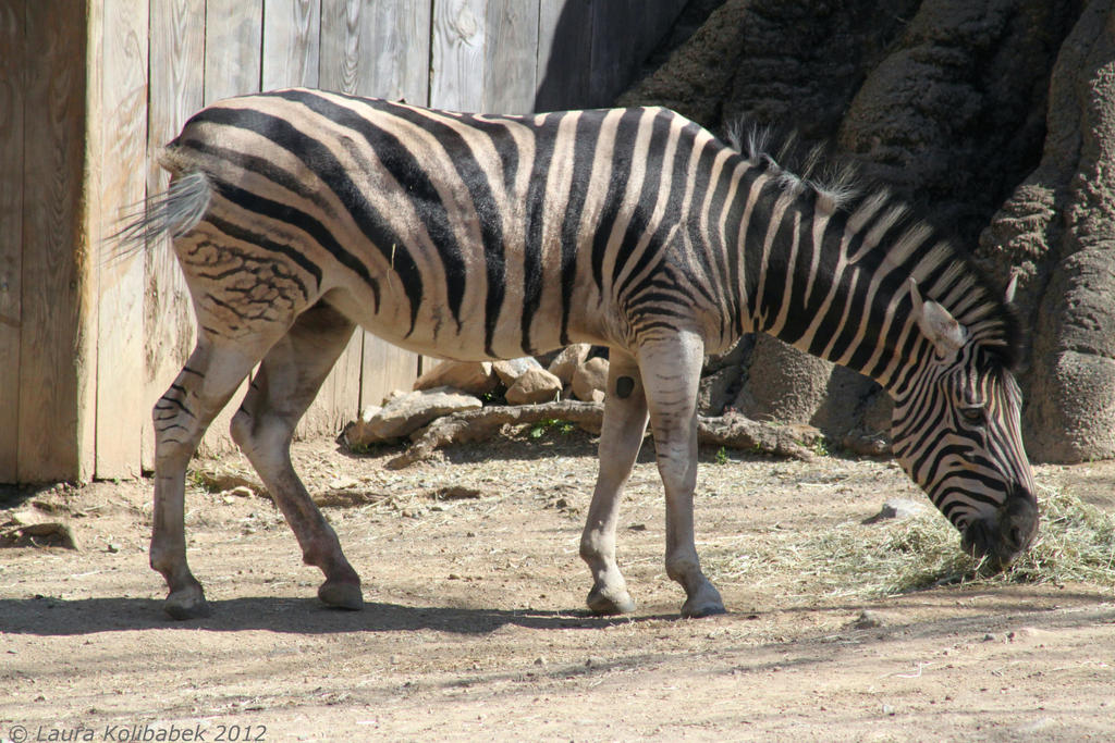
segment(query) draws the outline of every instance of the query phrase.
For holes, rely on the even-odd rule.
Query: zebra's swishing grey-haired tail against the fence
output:
[[[106,239],[114,246],[108,261],[144,253],[163,235],[186,234],[205,216],[212,193],[209,177],[201,170],[177,176],[166,190],[135,204],[124,215],[123,226]]]

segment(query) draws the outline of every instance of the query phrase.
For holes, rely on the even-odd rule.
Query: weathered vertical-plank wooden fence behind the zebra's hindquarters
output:
[[[106,263],[157,148],[232,95],[310,86],[463,110],[607,105],[685,0],[0,0],[0,482],[130,477],[193,346],[165,246]],[[419,360],[358,333],[301,431]],[[232,407],[232,405],[231,405]],[[227,412],[206,437],[227,441]]]

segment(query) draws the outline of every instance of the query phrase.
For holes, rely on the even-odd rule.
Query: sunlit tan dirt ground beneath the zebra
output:
[[[361,613],[317,603],[320,575],[270,500],[244,490],[191,490],[190,556],[214,612],[181,623],[163,616],[147,567],[149,483],[0,492],[9,509],[54,508],[79,547],[0,550],[0,739],[1115,737],[1111,586],[850,598],[854,585],[822,588],[806,564],[759,579],[724,568],[773,534],[792,549],[888,497],[918,497],[890,462],[705,452],[698,544],[730,613],[678,619],[648,449],[621,520],[639,608],[621,618],[582,610],[595,461],[580,432],[403,471],[384,467],[395,452],[299,443],[362,575]],[[236,456],[198,466],[246,471]],[[1115,462],[1038,478],[1115,507]]]

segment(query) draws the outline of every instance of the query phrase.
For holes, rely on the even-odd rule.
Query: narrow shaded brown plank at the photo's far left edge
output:
[[[19,336],[23,264],[22,0],[0,3],[0,482],[18,480]]]

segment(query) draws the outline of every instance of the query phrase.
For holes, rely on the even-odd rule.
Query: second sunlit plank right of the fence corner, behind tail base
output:
[[[169,175],[155,154],[204,105],[205,0],[159,0],[151,6],[151,92],[147,111],[147,193],[164,190]],[[144,360],[149,409],[190,355],[194,321],[190,292],[168,238],[148,246],[144,274]],[[155,436],[143,428],[140,463],[154,468]]]

